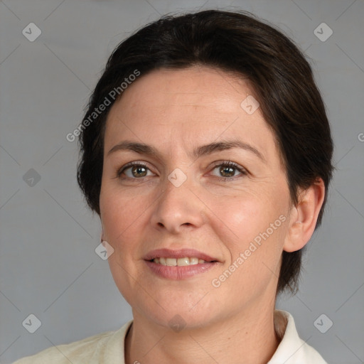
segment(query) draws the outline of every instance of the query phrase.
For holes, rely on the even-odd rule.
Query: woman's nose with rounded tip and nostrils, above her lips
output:
[[[188,180],[177,187],[166,179],[163,187],[151,216],[154,228],[178,234],[203,225],[205,204]]]

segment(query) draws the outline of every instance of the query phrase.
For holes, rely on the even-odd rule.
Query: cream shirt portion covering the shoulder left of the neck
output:
[[[26,356],[13,364],[107,363],[107,355],[124,363],[124,337],[132,321],[117,331],[107,331],[73,343],[52,346],[36,355]],[[118,357],[118,358],[116,358]],[[123,361],[121,361],[123,360]]]

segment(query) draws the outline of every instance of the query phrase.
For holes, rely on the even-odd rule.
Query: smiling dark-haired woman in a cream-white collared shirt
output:
[[[110,56],[78,182],[133,321],[16,363],[326,363],[293,317],[333,166],[309,64],[243,13],[165,16]]]

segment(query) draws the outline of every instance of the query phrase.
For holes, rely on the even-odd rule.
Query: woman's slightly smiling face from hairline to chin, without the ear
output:
[[[134,319],[201,326],[274,301],[289,188],[252,95],[220,70],[156,70],[110,110],[102,237]]]

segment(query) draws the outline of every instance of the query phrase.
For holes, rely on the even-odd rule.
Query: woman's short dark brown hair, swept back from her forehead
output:
[[[84,117],[89,123],[79,139],[77,181],[90,208],[100,215],[105,124],[109,109],[122,97],[122,82],[136,70],[143,77],[152,70],[194,65],[233,73],[249,82],[274,134],[291,203],[298,203],[299,188],[323,180],[326,193],[315,229],[319,227],[333,173],[333,141],[323,100],[311,66],[296,45],[245,11],[162,16],[113,51],[90,97]],[[115,90],[117,97],[109,97],[116,95]],[[106,105],[106,98],[105,111],[92,114],[99,105]],[[282,253],[277,294],[285,289],[296,293],[301,254],[302,249]]]

